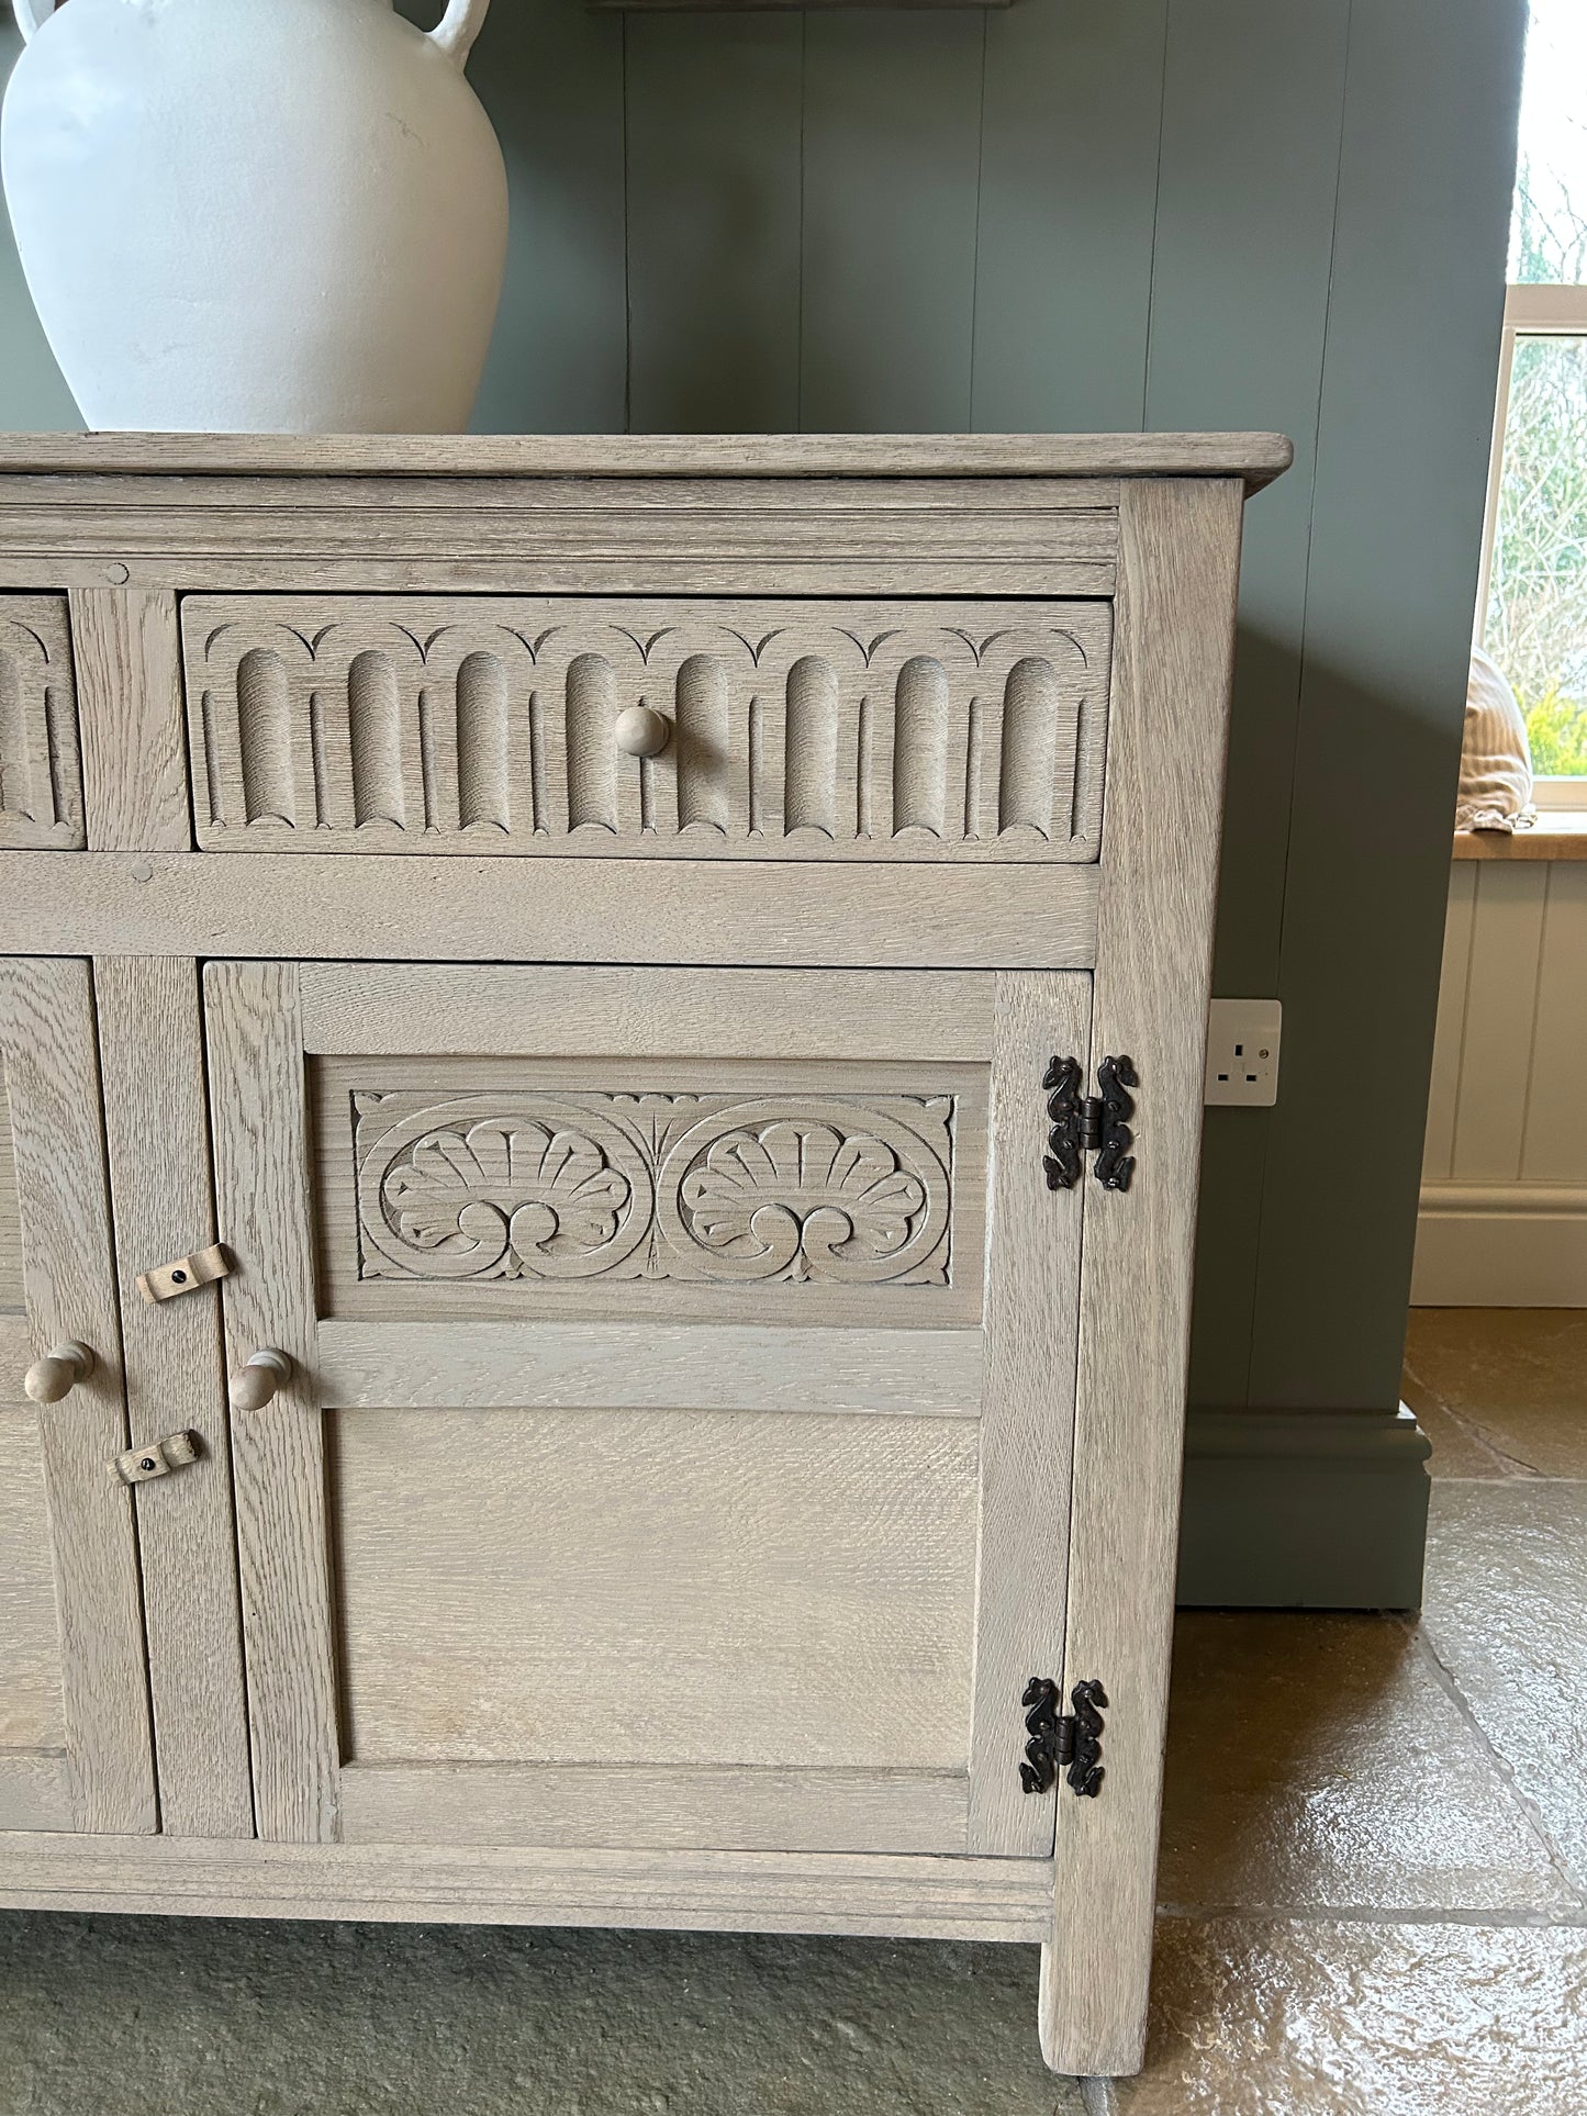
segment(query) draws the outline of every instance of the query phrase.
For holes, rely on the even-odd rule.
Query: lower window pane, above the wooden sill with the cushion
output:
[[[1587,336],[1517,339],[1483,645],[1538,772],[1587,772]]]

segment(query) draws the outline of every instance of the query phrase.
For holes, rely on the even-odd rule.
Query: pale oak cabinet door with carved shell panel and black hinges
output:
[[[262,1835],[1052,1849],[1088,999],[209,965]]]

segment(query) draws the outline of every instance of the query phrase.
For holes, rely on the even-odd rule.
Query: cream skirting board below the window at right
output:
[[[1587,1308],[1587,1185],[1424,1183],[1413,1308]]]

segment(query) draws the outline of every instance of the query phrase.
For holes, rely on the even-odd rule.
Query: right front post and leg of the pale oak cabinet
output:
[[[1136,1064],[1138,1166],[1086,1193],[1062,1676],[1107,1689],[1107,1782],[1058,1805],[1041,1976],[1079,2074],[1136,2072],[1147,2025],[1240,487],[1132,485],[1121,533],[1092,1054]]]

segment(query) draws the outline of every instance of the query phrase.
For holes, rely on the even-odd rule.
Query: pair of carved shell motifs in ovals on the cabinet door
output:
[[[360,1278],[950,1282],[952,1096],[355,1092]]]

